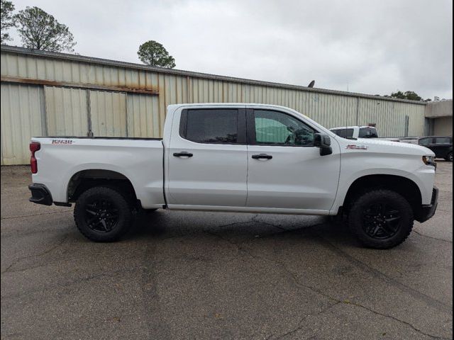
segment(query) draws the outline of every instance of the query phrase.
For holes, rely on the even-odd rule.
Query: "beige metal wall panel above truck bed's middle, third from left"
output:
[[[128,137],[126,94],[89,91],[89,101],[94,137]]]

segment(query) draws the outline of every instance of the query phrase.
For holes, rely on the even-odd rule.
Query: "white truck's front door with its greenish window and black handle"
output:
[[[338,148],[321,156],[314,147],[317,131],[295,115],[247,111],[247,206],[330,210],[338,188]]]

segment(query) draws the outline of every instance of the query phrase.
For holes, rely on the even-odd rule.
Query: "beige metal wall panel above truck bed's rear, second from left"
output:
[[[48,135],[87,135],[87,90],[45,86],[44,94]]]

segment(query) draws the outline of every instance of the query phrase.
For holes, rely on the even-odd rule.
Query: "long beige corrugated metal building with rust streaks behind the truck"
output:
[[[327,128],[424,134],[425,103],[1,46],[1,164],[27,164],[32,136],[160,137],[173,103],[288,106]]]

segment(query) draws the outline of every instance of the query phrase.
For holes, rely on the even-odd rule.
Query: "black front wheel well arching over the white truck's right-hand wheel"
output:
[[[348,188],[343,203],[343,210],[348,212],[353,200],[362,193],[370,191],[370,189],[388,189],[395,191],[409,201],[414,212],[421,208],[421,191],[419,191],[419,187],[414,181],[411,181],[411,179],[394,175],[370,175],[360,177],[352,183],[350,188]]]

